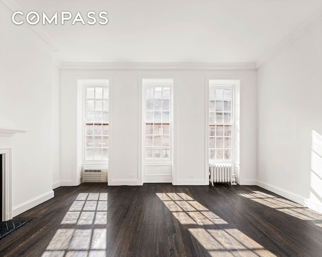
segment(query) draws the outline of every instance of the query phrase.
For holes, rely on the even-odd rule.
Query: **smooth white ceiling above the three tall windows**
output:
[[[37,25],[61,61],[255,62],[322,0],[16,0],[25,10],[107,11],[107,25]]]

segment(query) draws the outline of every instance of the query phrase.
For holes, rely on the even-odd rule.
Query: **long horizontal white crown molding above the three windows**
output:
[[[255,70],[253,62],[62,62],[61,69]]]

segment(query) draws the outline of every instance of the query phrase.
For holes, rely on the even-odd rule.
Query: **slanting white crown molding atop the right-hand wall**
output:
[[[275,54],[280,52],[282,49],[287,47],[291,42],[303,35],[312,26],[322,21],[322,8],[316,11],[312,16],[306,19],[301,25],[294,29],[290,34],[284,37],[280,42],[278,42],[273,48],[266,52],[262,57],[260,57],[256,62],[256,68],[259,68],[263,63],[272,58]]]

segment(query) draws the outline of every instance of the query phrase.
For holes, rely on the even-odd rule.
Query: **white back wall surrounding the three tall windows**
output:
[[[240,183],[256,182],[257,89],[256,71],[201,70],[88,70],[60,71],[60,179],[61,185],[77,184],[77,79],[113,79],[113,154],[109,185],[140,184],[139,77],[173,76],[175,172],[177,184],[207,184],[205,176],[205,79],[241,80]],[[128,129],[129,126],[131,129]],[[130,177],[129,174],[133,174]],[[191,178],[193,176],[193,178]]]

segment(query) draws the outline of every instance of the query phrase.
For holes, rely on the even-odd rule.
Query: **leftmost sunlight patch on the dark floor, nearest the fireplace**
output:
[[[107,193],[79,194],[42,257],[106,256],[107,229],[95,225],[107,224],[107,204]]]

